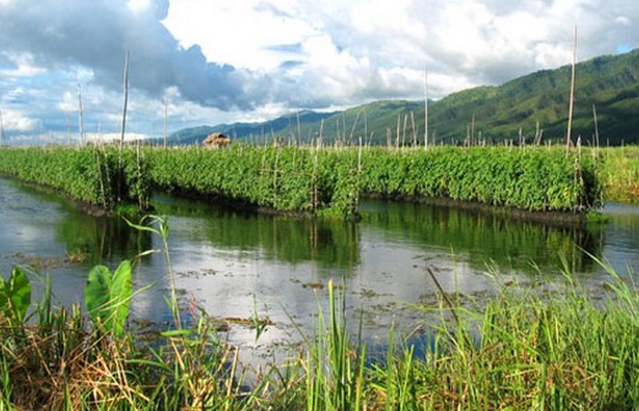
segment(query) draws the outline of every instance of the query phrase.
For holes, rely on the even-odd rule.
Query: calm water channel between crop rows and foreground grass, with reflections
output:
[[[158,195],[168,216],[169,248],[184,301],[230,321],[224,338],[249,356],[268,358],[299,341],[291,319],[310,332],[330,279],[347,293],[351,324],[360,318],[369,342],[383,344],[393,324],[409,329],[422,314],[407,304],[437,304],[431,269],[446,291],[486,299],[495,284],[523,287],[560,279],[568,265],[584,282],[609,279],[582,250],[622,276],[639,272],[639,207],[606,205],[610,221],[589,228],[549,227],[479,212],[365,201],[359,224],[246,215],[202,202]],[[23,265],[50,274],[61,304],[81,303],[89,269],[114,269],[123,258],[162,248],[159,237],[123,221],[80,213],[57,195],[0,179],[0,272]],[[73,261],[80,256],[80,262]],[[161,254],[141,258],[133,321],[167,321],[169,269]],[[316,298],[319,296],[320,302]],[[234,319],[257,311],[273,321],[256,332]]]

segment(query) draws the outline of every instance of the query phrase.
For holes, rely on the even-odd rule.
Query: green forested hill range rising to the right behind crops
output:
[[[501,86],[477,87],[429,101],[431,142],[563,141],[568,121],[571,66],[542,70]],[[572,136],[593,141],[594,111],[602,145],[639,142],[639,49],[577,65]],[[322,127],[323,121],[323,127]],[[424,143],[424,101],[376,101],[330,113],[300,111],[260,123],[220,124],[182,130],[172,143],[199,143],[209,132],[267,142],[274,136],[302,142]],[[399,132],[398,132],[399,131]]]

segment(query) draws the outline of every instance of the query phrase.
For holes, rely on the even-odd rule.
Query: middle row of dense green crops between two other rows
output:
[[[352,162],[330,151],[234,144],[224,150],[197,147],[147,149],[151,178],[164,190],[222,196],[278,211],[357,210]]]

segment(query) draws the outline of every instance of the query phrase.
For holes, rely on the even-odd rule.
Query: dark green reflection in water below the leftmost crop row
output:
[[[67,245],[69,257],[97,264],[111,257],[135,256],[152,248],[147,232],[134,230],[120,218],[72,213],[56,227],[59,241]]]

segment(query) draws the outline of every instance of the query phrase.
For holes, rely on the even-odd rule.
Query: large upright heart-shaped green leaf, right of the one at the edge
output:
[[[133,283],[131,262],[124,260],[111,275],[105,266],[89,271],[85,300],[91,320],[97,327],[120,337],[125,331]]]

